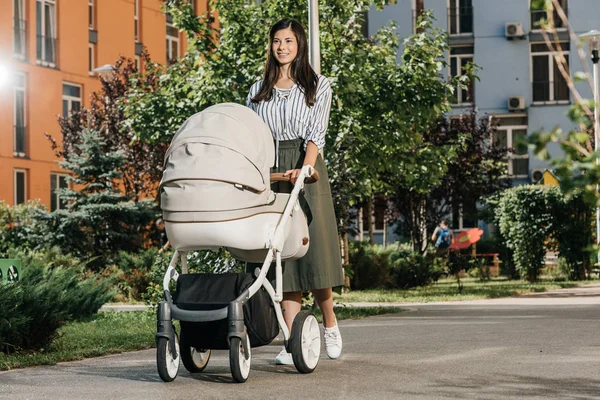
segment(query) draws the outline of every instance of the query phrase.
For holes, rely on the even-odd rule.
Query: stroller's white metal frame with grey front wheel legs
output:
[[[230,344],[230,364],[232,364],[231,366],[232,366],[233,378],[237,382],[245,382],[245,380],[247,379],[247,374],[246,374],[246,376],[244,376],[243,371],[242,371],[241,375],[240,375],[239,371],[237,371],[238,373],[236,374],[236,371],[234,371],[233,363],[231,363],[232,357],[234,357],[234,355],[231,354],[231,352],[233,351],[233,346],[231,346],[231,343],[234,338],[239,339],[239,344],[241,345],[241,346],[239,346],[239,349],[240,349],[240,351],[243,352],[243,356],[245,357],[245,359],[249,360],[249,358],[250,358],[250,340],[248,338],[248,333],[247,333],[247,330],[246,330],[246,327],[244,324],[243,306],[254,294],[256,294],[256,292],[258,292],[258,290],[261,289],[261,287],[264,287],[265,290],[267,291],[267,293],[269,294],[269,297],[271,298],[271,301],[273,303],[273,306],[275,309],[275,314],[277,316],[277,321],[278,321],[279,327],[283,333],[285,348],[288,350],[288,352],[292,353],[294,365],[296,366],[298,371],[302,372],[302,373],[309,373],[314,370],[314,368],[316,367],[316,364],[318,363],[319,352],[320,352],[320,331],[318,329],[318,325],[316,325],[317,326],[317,329],[316,329],[317,337],[312,337],[312,341],[311,341],[311,343],[314,343],[314,341],[318,339],[318,347],[314,347],[314,345],[312,345],[313,346],[313,348],[312,348],[313,359],[315,358],[314,353],[316,352],[316,361],[308,360],[308,362],[307,362],[306,349],[304,347],[300,348],[300,347],[304,346],[302,343],[306,341],[307,329],[306,329],[306,327],[303,327],[305,321],[310,320],[308,322],[311,323],[313,325],[313,327],[312,327],[312,329],[309,328],[309,331],[312,331],[312,336],[315,336],[314,326],[316,323],[316,319],[315,319],[314,315],[312,313],[310,313],[310,315],[306,315],[306,313],[308,313],[308,312],[301,312],[300,314],[304,313],[304,315],[302,315],[302,316],[299,314],[299,316],[302,317],[302,318],[300,318],[300,319],[302,319],[302,321],[299,322],[297,325],[296,319],[298,319],[298,317],[294,320],[294,325],[293,325],[294,332],[292,332],[292,333],[294,334],[294,336],[298,336],[298,335],[302,335],[302,336],[298,336],[297,340],[296,340],[297,344],[295,346],[291,346],[290,339],[292,339],[292,341],[293,341],[294,338],[291,336],[290,330],[288,329],[288,327],[285,323],[285,320],[283,318],[283,312],[281,309],[281,304],[280,304],[281,301],[283,300],[283,268],[282,268],[282,263],[281,263],[282,262],[281,261],[281,252],[283,250],[283,246],[285,243],[285,234],[284,234],[285,226],[291,217],[292,210],[298,201],[300,192],[304,189],[304,185],[306,183],[305,180],[307,178],[310,179],[311,177],[314,177],[313,179],[315,179],[315,180],[318,179],[318,174],[316,173],[316,170],[314,169],[314,167],[312,167],[310,165],[303,166],[300,171],[300,174],[296,180],[296,183],[294,184],[294,188],[293,188],[292,192],[290,193],[290,197],[284,208],[283,214],[282,214],[279,222],[277,223],[277,226],[275,227],[274,234],[273,234],[270,242],[268,243],[268,251],[267,251],[265,260],[262,264],[262,267],[260,268],[260,270],[258,268],[256,268],[256,270],[254,271],[256,280],[250,287],[248,287],[246,290],[244,290],[235,300],[231,301],[228,306],[217,309],[217,310],[184,310],[184,309],[179,308],[176,304],[173,303],[173,298],[169,291],[169,283],[171,280],[177,281],[177,279],[179,277],[179,273],[177,272],[177,269],[176,269],[179,260],[181,260],[181,273],[182,274],[188,273],[188,265],[187,265],[186,256],[189,252],[189,251],[179,251],[179,250],[175,251],[175,253],[173,254],[173,257],[171,258],[171,262],[169,263],[169,266],[163,277],[164,300],[158,304],[156,341],[157,341],[157,344],[159,343],[161,338],[164,338],[168,341],[168,350],[171,353],[171,356],[173,357],[173,359],[177,360],[177,365],[178,365],[179,353],[181,353],[182,351],[187,351],[187,350],[179,349],[179,351],[178,351],[179,346],[177,346],[176,332],[175,332],[175,328],[172,323],[173,319],[177,319],[180,321],[186,321],[186,322],[208,322],[208,321],[217,321],[217,320],[222,320],[222,319],[227,318],[228,326],[229,326],[229,332],[227,334],[227,342]],[[273,285],[271,285],[271,282],[269,282],[269,280],[266,279],[273,260],[275,260],[275,288],[273,287]],[[314,321],[310,319],[311,316],[312,316],[312,319],[314,319]],[[296,329],[296,326],[298,326],[298,329]],[[296,331],[300,331],[300,332],[296,332]],[[236,343],[238,343],[238,341],[236,341]],[[310,345],[310,343],[309,343],[309,345]],[[158,353],[160,353],[162,350],[161,350],[160,346],[157,346],[157,347],[158,347]],[[161,365],[160,365],[161,360],[160,360],[160,354],[158,354],[158,353],[157,353],[157,356],[158,356],[157,361],[158,361],[158,367],[159,367],[158,368],[159,374],[161,375],[161,378],[165,381],[170,381],[170,380],[175,379],[175,377],[177,375],[177,371],[175,371],[175,376],[173,376],[172,372],[168,372],[165,375],[164,368],[163,368],[163,371],[161,371]],[[208,359],[206,359],[206,362],[208,362]],[[187,368],[187,365],[185,362],[184,362],[184,365]],[[177,366],[177,368],[178,368],[178,366]],[[202,366],[201,368],[198,368],[196,370],[201,371],[203,368],[204,368],[204,366]],[[248,370],[249,370],[249,364],[248,364]]]

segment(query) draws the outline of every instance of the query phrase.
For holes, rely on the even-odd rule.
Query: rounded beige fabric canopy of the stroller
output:
[[[234,103],[209,107],[173,137],[160,183],[161,208],[197,213],[268,204],[274,160],[271,132],[256,113]]]

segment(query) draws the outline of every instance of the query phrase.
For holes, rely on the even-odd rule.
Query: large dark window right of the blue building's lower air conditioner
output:
[[[567,61],[568,70],[569,43],[560,43],[560,46]],[[534,103],[569,102],[569,86],[558,68],[554,54],[556,52],[549,50],[545,43],[531,45],[531,83]]]

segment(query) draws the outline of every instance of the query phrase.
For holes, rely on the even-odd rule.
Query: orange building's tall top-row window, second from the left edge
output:
[[[37,0],[36,59],[39,64],[56,66],[56,0]]]

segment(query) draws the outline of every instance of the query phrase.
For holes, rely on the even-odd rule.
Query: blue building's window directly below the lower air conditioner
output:
[[[512,178],[529,176],[529,152],[523,142],[527,137],[527,125],[502,125],[494,133],[494,145],[497,148],[509,148],[508,175]]]

